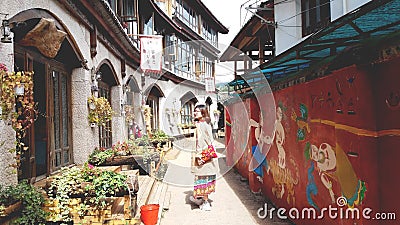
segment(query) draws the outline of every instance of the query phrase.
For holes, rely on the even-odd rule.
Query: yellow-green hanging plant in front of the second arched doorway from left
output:
[[[110,102],[104,97],[97,98],[91,95],[88,98],[89,115],[88,120],[91,126],[104,126],[111,117],[114,111],[111,108]]]

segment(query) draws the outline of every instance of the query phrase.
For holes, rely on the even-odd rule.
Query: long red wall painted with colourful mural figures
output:
[[[254,126],[249,127],[244,156],[236,168],[249,178],[252,191],[262,190],[277,207],[286,209],[325,207],[345,210],[369,207],[375,212],[396,212],[400,197],[400,58],[368,68],[346,67],[308,83],[246,99],[251,119],[263,116],[265,138],[260,170],[251,163],[257,145]],[[267,103],[268,104],[267,104]],[[239,103],[228,106],[229,114],[243,118]],[[273,107],[271,107],[271,105]],[[273,109],[273,110],[271,110]],[[282,118],[277,115],[282,115]],[[234,123],[232,126],[235,126]],[[275,128],[275,132],[268,128]],[[264,130],[266,129],[266,130]],[[234,130],[232,130],[234,132]],[[245,134],[241,131],[241,134]],[[235,144],[232,154],[242,151]],[[314,153],[314,154],[311,154]],[[313,159],[314,157],[314,159]],[[250,165],[250,171],[249,171]],[[257,176],[262,178],[259,182]],[[366,192],[364,188],[366,188]],[[338,206],[344,196],[348,204]],[[261,207],[261,206],[260,206]],[[319,214],[318,214],[319,215]],[[296,224],[398,224],[367,219],[295,220]],[[360,215],[362,217],[362,215]],[[391,223],[393,222],[393,223]]]

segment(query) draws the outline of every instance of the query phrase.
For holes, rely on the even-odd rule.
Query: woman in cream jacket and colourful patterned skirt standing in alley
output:
[[[208,195],[215,192],[216,174],[218,172],[218,160],[212,158],[209,162],[198,165],[196,159],[201,152],[212,145],[211,119],[205,105],[195,106],[194,118],[196,121],[196,148],[192,154],[192,172],[195,175],[193,195],[190,200],[200,206],[201,210],[211,210]]]

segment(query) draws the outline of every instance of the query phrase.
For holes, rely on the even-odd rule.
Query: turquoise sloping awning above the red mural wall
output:
[[[303,42],[260,65],[257,71],[249,72],[229,85],[257,88],[260,82],[255,81],[254,77],[260,77],[260,73],[268,82],[278,82],[282,78],[296,76],[305,69],[330,62],[354,46],[376,45],[396,36],[400,36],[400,0],[374,0],[335,20]]]

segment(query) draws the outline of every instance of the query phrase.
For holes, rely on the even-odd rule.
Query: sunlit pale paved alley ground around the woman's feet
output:
[[[218,152],[221,153],[224,146],[221,143],[216,145]],[[219,158],[221,171],[226,170],[224,162],[225,159],[221,154]],[[169,167],[164,180],[169,183],[167,199],[170,196],[170,204],[169,209],[163,213],[162,225],[291,224],[287,221],[275,219],[259,219],[257,210],[264,206],[266,199],[251,193],[248,183],[243,181],[233,169],[229,170],[224,176],[219,176],[216,192],[210,195],[212,210],[200,210],[197,205],[193,205],[189,200],[194,179],[190,173],[189,165],[190,152],[188,151],[180,151],[179,154],[176,154],[175,159],[169,160]]]

